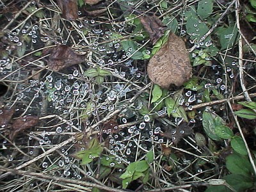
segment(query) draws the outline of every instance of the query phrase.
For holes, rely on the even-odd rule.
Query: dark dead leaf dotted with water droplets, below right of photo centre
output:
[[[192,127],[189,127],[188,123],[186,122],[181,122],[181,124],[178,125],[177,128],[169,129],[166,132],[160,133],[160,135],[165,138],[172,139],[173,144],[177,145],[177,143],[179,143],[179,141],[182,138],[189,136],[192,133],[193,133]]]

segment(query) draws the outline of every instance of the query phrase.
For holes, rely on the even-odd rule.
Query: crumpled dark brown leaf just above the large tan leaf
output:
[[[157,40],[164,35],[166,27],[163,26],[163,23],[156,17],[156,15],[152,17],[144,15],[140,17],[140,22],[148,32],[153,45],[156,44]]]

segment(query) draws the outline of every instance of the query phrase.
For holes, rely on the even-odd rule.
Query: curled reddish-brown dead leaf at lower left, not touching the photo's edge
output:
[[[9,135],[10,140],[13,140],[19,132],[29,129],[38,123],[39,118],[37,116],[23,116],[17,118],[13,124]]]

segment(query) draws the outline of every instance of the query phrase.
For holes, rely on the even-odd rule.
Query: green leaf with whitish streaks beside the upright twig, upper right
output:
[[[236,26],[230,26],[228,28],[220,27],[217,29],[217,34],[220,38],[221,49],[227,49],[236,43]]]

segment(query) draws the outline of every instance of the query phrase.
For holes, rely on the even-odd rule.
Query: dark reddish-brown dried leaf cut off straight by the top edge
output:
[[[77,15],[77,0],[58,0],[62,17],[67,20],[76,20]]]

